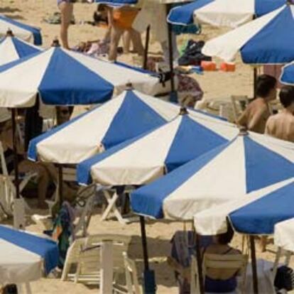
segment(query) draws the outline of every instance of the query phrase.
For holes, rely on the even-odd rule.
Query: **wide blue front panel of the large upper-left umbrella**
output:
[[[105,102],[111,98],[113,89],[113,85],[60,48],[55,48],[39,86],[43,102],[52,105]]]

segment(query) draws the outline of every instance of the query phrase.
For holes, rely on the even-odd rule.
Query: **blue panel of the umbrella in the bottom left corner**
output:
[[[50,273],[58,265],[58,246],[55,241],[0,226],[0,239],[31,251],[44,258],[45,272]],[[21,261],[21,256],[19,257]]]

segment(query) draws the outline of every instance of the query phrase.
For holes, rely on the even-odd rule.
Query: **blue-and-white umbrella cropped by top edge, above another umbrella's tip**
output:
[[[168,22],[189,25],[193,22],[212,26],[240,26],[283,6],[286,0],[197,0],[173,8]]]

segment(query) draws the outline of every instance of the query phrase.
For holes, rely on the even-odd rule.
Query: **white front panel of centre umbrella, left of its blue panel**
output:
[[[165,158],[183,116],[93,165],[92,179],[102,185],[142,185],[164,174]]]

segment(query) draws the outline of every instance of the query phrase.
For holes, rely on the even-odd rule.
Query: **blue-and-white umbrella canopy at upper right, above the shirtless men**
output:
[[[207,41],[202,53],[247,64],[284,64],[294,60],[294,6],[287,4],[229,33]]]

